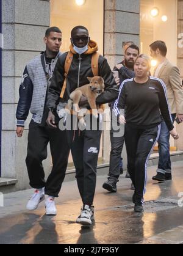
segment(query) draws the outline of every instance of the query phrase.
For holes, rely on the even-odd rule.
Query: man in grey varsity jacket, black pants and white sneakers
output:
[[[16,110],[16,134],[21,137],[24,131],[24,122],[27,115],[32,113],[29,124],[26,165],[29,174],[30,186],[35,188],[33,196],[27,203],[27,210],[35,210],[38,204],[46,199],[46,214],[56,215],[57,210],[54,197],[58,197],[62,181],[65,177],[68,163],[69,147],[66,132],[58,128],[59,117],[56,120],[56,129],[46,125],[48,109],[46,96],[48,84],[52,76],[62,44],[62,32],[58,27],[49,27],[46,30],[44,42],[46,51],[30,60],[24,70],[23,80],[20,85],[20,99]],[[47,158],[47,145],[50,144],[52,156],[52,170],[45,181],[45,172],[42,161]],[[63,152],[64,154],[60,154]]]

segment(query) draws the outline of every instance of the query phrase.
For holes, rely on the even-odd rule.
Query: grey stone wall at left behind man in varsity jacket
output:
[[[18,178],[16,189],[29,186],[25,164],[26,121],[23,137],[16,137],[15,112],[24,67],[45,49],[43,37],[49,27],[49,1],[2,0],[2,177]],[[50,169],[50,157],[45,168]]]

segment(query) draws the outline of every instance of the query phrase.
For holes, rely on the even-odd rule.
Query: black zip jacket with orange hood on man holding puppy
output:
[[[91,70],[91,56],[98,50],[97,44],[90,40],[88,43],[88,50],[84,54],[77,54],[73,46],[70,46],[70,51],[74,54],[71,62],[70,70],[68,71],[66,90],[63,95],[62,101],[69,99],[70,93],[77,87],[88,84],[87,76],[93,77]],[[57,60],[54,73],[52,75],[51,84],[48,90],[47,107],[56,108],[60,100],[60,92],[62,90],[63,82],[65,79],[65,59],[68,52],[63,53]],[[104,93],[96,98],[96,104],[109,103],[118,97],[118,86],[113,78],[112,71],[110,70],[107,60],[99,56],[98,60],[98,75],[104,79],[105,90]]]

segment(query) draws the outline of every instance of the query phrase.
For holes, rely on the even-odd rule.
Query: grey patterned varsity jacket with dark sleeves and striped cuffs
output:
[[[61,53],[59,52],[56,59],[52,59],[50,76],[54,71],[57,59]],[[49,65],[46,65],[48,72]],[[49,72],[48,72],[49,73]],[[32,113],[32,119],[35,123],[41,123],[45,108],[46,93],[48,89],[48,81],[45,71],[41,64],[41,54],[30,60],[24,69],[22,81],[20,84],[20,98],[16,109],[16,125],[24,126],[29,110]]]

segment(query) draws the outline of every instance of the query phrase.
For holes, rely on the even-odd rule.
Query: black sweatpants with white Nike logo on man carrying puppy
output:
[[[101,130],[67,131],[68,142],[76,168],[76,179],[82,202],[93,204],[96,187],[96,167]]]

